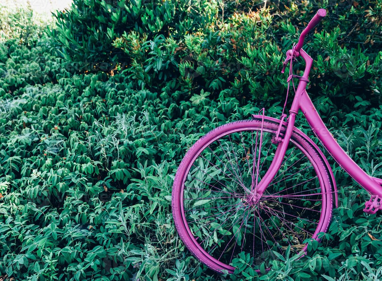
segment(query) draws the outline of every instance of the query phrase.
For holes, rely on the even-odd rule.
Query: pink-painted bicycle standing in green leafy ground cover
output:
[[[367,175],[343,151],[306,92],[313,59],[301,47],[325,15],[325,9],[318,10],[297,45],[286,52],[282,73],[289,63],[287,95],[290,82],[295,92],[286,121],[286,114],[275,119],[262,109],[249,120],[217,127],[189,149],[176,172],[176,229],[212,270],[233,273],[233,258],[244,253],[257,272],[264,272],[288,247],[304,255],[307,241],[319,241],[327,231],[338,204],[337,187],[322,151],[295,127],[299,110],[338,164],[371,194],[364,211],[382,209],[382,180]],[[292,73],[298,57],[306,64],[302,76]],[[297,89],[293,79],[299,80]]]

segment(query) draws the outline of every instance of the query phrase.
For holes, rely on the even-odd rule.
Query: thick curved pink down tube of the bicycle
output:
[[[308,93],[304,91],[301,94],[300,109],[308,120],[315,135],[319,138],[326,150],[333,156],[334,160],[344,169],[355,181],[372,195],[382,197],[382,187],[374,181],[364,170],[362,170],[353,159],[346,154],[338,145],[333,135],[322,122],[316,108],[314,107]]]

